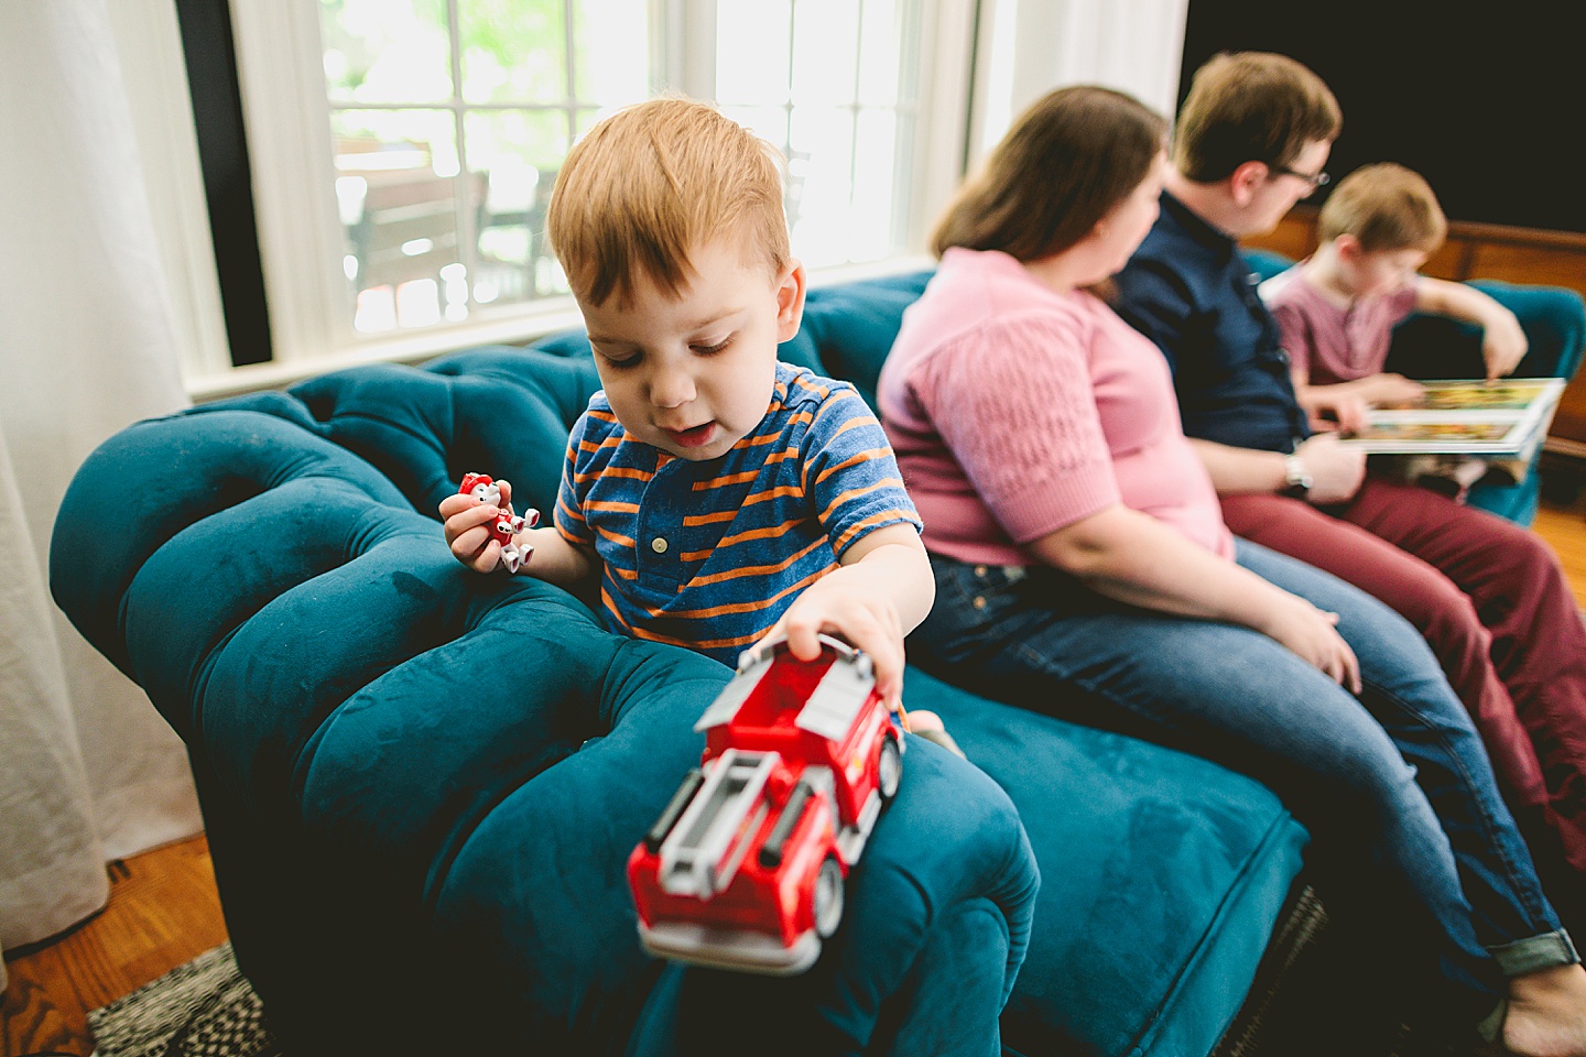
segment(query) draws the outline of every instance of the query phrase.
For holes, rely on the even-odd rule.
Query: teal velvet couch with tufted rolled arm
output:
[[[783,358],[872,399],[925,280],[814,290]],[[917,669],[906,702],[971,762],[909,738],[815,968],[641,951],[623,864],[730,672],[465,570],[435,518],[465,471],[549,509],[595,388],[580,333],[362,366],[130,426],[68,490],[57,540],[117,525],[92,563],[54,548],[54,597],[184,738],[284,1052],[1245,1052],[1305,830],[1243,777]]]

